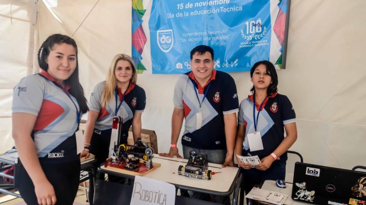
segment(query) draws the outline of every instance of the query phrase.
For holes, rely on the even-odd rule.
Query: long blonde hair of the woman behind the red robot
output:
[[[131,64],[132,67],[132,78],[130,79],[130,82],[137,83],[137,69],[135,66],[135,63],[133,62],[132,58],[129,55],[126,54],[117,54],[113,60],[111,65],[109,66],[107,78],[105,80],[106,84],[103,90],[102,94],[102,107],[105,107],[108,103],[108,100],[114,95],[116,86],[117,86],[117,80],[116,76],[114,74],[114,70],[116,69],[116,64],[120,60],[128,61]]]

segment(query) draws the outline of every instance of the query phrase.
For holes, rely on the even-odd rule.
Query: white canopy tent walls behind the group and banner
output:
[[[291,150],[307,163],[347,169],[366,165],[365,11],[365,0],[291,0],[279,92],[289,97],[297,115],[298,140]],[[12,89],[22,77],[38,72],[39,42],[54,33],[78,43],[81,83],[89,98],[113,56],[131,54],[131,0],[0,1],[0,153],[14,145]],[[241,101],[250,94],[249,73],[230,74]],[[138,76],[147,97],[142,127],[156,131],[160,152],[169,150],[177,78]]]

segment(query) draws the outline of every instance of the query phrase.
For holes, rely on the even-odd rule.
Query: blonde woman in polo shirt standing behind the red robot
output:
[[[127,143],[131,124],[134,141],[141,137],[141,114],[146,96],[136,82],[137,69],[131,57],[117,54],[109,67],[106,81],[98,83],[91,94],[84,132],[85,148],[81,155],[88,157],[90,151],[96,156],[97,165],[108,158],[114,116],[123,118],[119,144]]]

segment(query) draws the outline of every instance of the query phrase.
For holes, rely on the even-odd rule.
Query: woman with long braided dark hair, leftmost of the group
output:
[[[13,138],[20,158],[16,187],[28,205],[72,205],[80,177],[75,132],[88,111],[76,42],[61,34],[49,36],[38,62],[41,72],[14,88]]]

